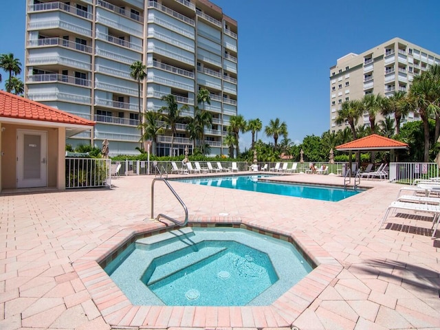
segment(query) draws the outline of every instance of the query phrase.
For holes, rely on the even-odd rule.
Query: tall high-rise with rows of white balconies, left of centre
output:
[[[237,114],[237,23],[207,0],[27,0],[25,96],[97,122],[93,131],[67,143],[100,147],[110,155],[137,154],[142,112],[157,111],[172,94],[192,117],[197,92],[208,89],[212,126],[204,140],[211,155],[223,146],[230,117]],[[146,65],[140,87],[130,66]],[[157,155],[192,151],[187,126],[157,137]]]

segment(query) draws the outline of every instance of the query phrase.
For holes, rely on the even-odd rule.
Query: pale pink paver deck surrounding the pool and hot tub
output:
[[[98,302],[92,298],[76,272],[78,261],[92,256],[124,230],[154,224],[149,220],[152,179],[120,177],[113,179],[112,189],[22,190],[0,195],[0,329],[111,329],[106,321],[121,318],[117,308],[121,297],[109,295]],[[343,183],[335,175],[278,179]],[[389,218],[386,229],[378,230],[401,185],[363,179],[362,186],[371,189],[334,203],[171,184],[192,220],[252,219],[265,228],[303,232],[338,261],[335,278],[294,320],[296,327],[440,329],[440,241],[430,238],[430,219],[421,214],[404,219],[397,213]],[[159,183],[155,188],[158,212],[173,217],[182,214],[177,201]],[[102,305],[107,306],[104,315]],[[231,329],[232,325],[256,329],[273,324],[271,315],[250,309],[239,314],[230,309],[225,314],[214,308],[214,315],[211,308],[183,312],[176,320],[154,307],[140,307],[136,314],[123,318],[142,316],[149,319],[146,325],[112,329]]]

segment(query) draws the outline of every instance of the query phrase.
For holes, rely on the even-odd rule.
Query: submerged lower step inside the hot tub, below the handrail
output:
[[[150,267],[148,267],[147,272],[142,276],[142,282],[146,283],[146,285],[153,285],[159,281],[162,281],[164,278],[172,276],[177,272],[181,272],[186,268],[200,263],[203,260],[209,259],[212,256],[216,256],[217,254],[223,252],[227,248],[223,248],[220,246],[205,246],[199,248],[199,250],[194,251],[191,247],[184,248],[179,252],[184,252],[183,255],[174,258],[175,253],[168,254],[167,256],[163,256],[155,259],[153,263],[151,263]],[[189,251],[192,252],[189,252]],[[174,259],[170,259],[170,258]],[[156,264],[156,267],[152,267]],[[151,269],[151,271],[150,271]]]

